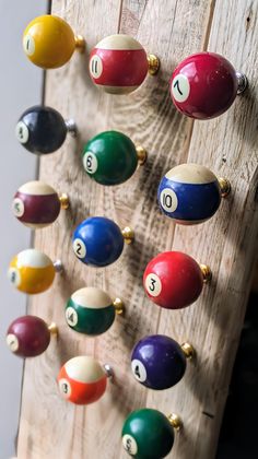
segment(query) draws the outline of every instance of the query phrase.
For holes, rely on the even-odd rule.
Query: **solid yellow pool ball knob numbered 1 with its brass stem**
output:
[[[67,63],[75,48],[84,50],[81,36],[74,36],[61,17],[46,14],[35,17],[24,31],[23,49],[27,58],[43,69],[56,69]]]

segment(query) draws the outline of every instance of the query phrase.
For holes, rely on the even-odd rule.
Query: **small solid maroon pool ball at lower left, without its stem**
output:
[[[48,348],[50,331],[46,322],[36,316],[23,316],[14,320],[7,332],[9,349],[21,357],[35,357]]]

